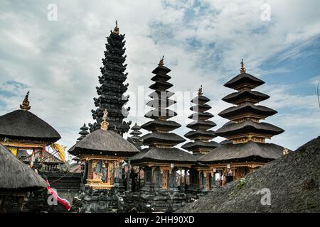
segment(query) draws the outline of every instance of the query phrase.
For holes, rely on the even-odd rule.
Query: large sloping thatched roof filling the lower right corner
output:
[[[178,212],[320,212],[320,137]],[[261,199],[270,189],[271,204]]]

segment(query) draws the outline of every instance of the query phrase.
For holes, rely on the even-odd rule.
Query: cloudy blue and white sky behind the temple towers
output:
[[[50,4],[57,7],[56,21]],[[319,9],[316,0],[1,0],[0,114],[18,109],[30,90],[33,114],[70,148],[82,123],[92,122],[105,37],[117,19],[126,35],[129,120],[148,121],[151,71],[164,55],[171,91],[180,94],[173,119],[182,127],[175,132],[188,131],[189,101],[201,84],[216,130],[226,122],[217,114],[230,106],[221,99],[233,92],[223,84],[244,58],[247,72],[266,82],[257,90],[271,98],[261,104],[278,111],[266,122],[285,130],[270,142],[296,149],[320,129]]]

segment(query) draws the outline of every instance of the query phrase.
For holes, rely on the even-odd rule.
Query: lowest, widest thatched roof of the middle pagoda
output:
[[[131,158],[131,163],[171,162],[195,164],[196,157],[178,148],[146,148]]]

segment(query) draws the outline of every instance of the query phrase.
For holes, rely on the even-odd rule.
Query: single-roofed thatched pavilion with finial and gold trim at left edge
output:
[[[28,164],[38,159],[49,166],[59,165],[63,161],[48,153],[46,147],[55,145],[61,136],[46,121],[31,113],[28,96],[29,92],[20,109],[0,116],[0,143]]]

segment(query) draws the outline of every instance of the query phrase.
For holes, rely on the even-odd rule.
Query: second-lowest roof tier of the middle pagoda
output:
[[[152,132],[142,136],[142,140],[144,140],[144,145],[154,145],[156,143],[166,143],[172,146],[177,145],[178,143],[183,143],[186,141],[180,135],[176,135],[175,133],[159,133]]]

